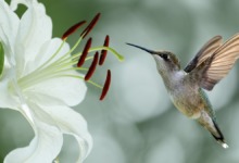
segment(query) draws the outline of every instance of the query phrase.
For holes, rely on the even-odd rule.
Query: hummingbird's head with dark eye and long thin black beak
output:
[[[176,58],[174,53],[169,51],[153,51],[136,45],[131,45],[131,43],[127,43],[127,45],[139,48],[152,54],[152,57],[156,62],[158,71],[161,74],[162,73],[164,74],[165,72],[169,73],[180,70],[179,60]]]

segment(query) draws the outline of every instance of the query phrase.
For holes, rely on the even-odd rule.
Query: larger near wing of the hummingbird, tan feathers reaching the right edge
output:
[[[188,76],[200,87],[212,90],[225,77],[239,58],[239,34],[228,39],[210,58],[204,60]]]

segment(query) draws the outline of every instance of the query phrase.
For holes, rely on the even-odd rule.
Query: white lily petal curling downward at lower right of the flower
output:
[[[87,129],[86,120],[73,109],[64,105],[41,105],[40,108],[40,112],[37,113],[38,116],[46,116],[48,121],[50,116],[63,134],[72,135],[76,138],[79,146],[77,162],[84,161],[92,149],[92,138]],[[42,111],[45,111],[45,114]]]

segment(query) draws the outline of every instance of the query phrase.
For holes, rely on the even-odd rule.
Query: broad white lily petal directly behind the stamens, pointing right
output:
[[[29,72],[34,70],[35,66],[40,66],[43,62],[46,62],[52,53],[56,51],[56,49],[62,43],[62,40],[59,38],[54,38],[50,41],[47,41],[38,57],[36,57],[36,61],[29,62],[27,64],[26,71]],[[67,43],[64,43],[61,51],[59,52],[58,58],[62,57],[70,50]],[[53,59],[52,61],[54,61]],[[70,66],[72,67],[72,66]],[[80,74],[75,71],[65,72],[67,75],[79,76]],[[52,87],[53,86],[53,87]],[[58,104],[59,101],[67,104],[70,106],[77,105],[80,103],[86,96],[87,87],[84,80],[74,77],[54,77],[51,79],[46,79],[34,87],[29,87],[25,93],[27,97],[36,98],[38,103],[46,103],[46,101],[52,103],[53,105]],[[56,103],[55,103],[56,101]]]

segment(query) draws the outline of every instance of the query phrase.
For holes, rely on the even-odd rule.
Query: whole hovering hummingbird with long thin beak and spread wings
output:
[[[133,43],[127,45],[153,57],[175,108],[209,130],[223,148],[228,148],[204,90],[212,90],[232,68],[239,58],[239,34],[224,43],[222,36],[213,37],[184,70],[180,68],[177,57],[169,51],[154,51]]]

